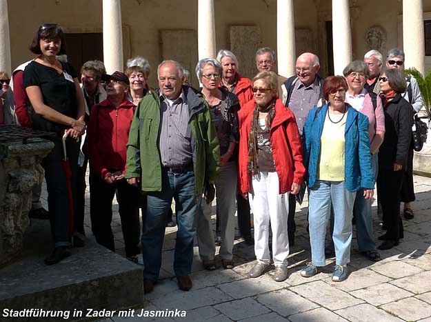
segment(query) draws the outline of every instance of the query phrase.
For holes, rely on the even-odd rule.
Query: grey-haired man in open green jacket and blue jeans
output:
[[[214,181],[220,148],[208,103],[182,86],[183,68],[163,61],[157,68],[160,90],[139,102],[129,132],[126,179],[140,185],[148,203],[141,237],[143,289],[151,292],[159,277],[165,225],[172,198],[178,232],[174,272],[181,290],[190,290],[193,239],[207,182]]]

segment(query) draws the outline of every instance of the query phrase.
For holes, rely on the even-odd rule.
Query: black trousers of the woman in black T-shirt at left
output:
[[[79,143],[70,138],[66,139],[66,152],[69,159],[72,177],[70,187],[66,181],[63,165],[63,143],[61,137],[52,140],[54,148],[43,159],[41,165],[45,169],[46,189],[48,190],[48,210],[54,246],[70,245],[70,212],[68,189],[72,190],[72,198],[76,197],[77,165]],[[73,201],[72,201],[73,202]]]

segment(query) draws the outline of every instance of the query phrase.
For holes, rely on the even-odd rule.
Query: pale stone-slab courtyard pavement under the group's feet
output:
[[[136,308],[131,310],[134,317],[114,316],[101,321],[431,322],[431,178],[415,176],[414,185],[417,197],[413,203],[414,219],[403,220],[405,232],[402,242],[392,250],[381,251],[383,260],[374,263],[359,254],[354,239],[350,275],[346,281],[331,281],[334,259],[327,260],[323,273],[308,279],[299,274],[311,255],[305,199],[297,208],[296,244],[290,249],[286,281],[273,281],[273,270],[257,279],[248,277],[248,271],[255,263],[254,249],[237,240],[232,270],[224,270],[218,258],[217,270],[203,270],[195,246],[191,275],[193,288],[183,292],[178,289],[172,270],[177,228],[167,228],[160,280],[154,291],[144,296],[143,310],[185,310],[186,317],[144,318],[138,316],[141,308]],[[117,252],[124,256],[117,209],[118,205],[114,205],[112,227]],[[377,240],[383,232],[375,201],[373,210],[374,237]],[[88,237],[92,238],[89,217],[86,215],[86,229]],[[130,262],[130,265],[136,264]]]

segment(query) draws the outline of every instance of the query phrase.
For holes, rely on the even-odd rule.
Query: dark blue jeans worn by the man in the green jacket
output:
[[[190,274],[193,261],[193,239],[197,227],[200,198],[194,187],[194,172],[174,173],[162,170],[160,192],[148,192],[145,229],[141,237],[143,279],[156,280],[161,267],[161,250],[165,236],[168,208],[175,200],[177,210],[177,241],[175,242],[174,273]]]

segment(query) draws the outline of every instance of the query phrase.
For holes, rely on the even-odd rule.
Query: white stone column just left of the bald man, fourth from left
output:
[[[277,62],[279,74],[294,74],[296,61],[293,0],[277,0]]]

